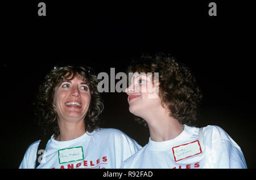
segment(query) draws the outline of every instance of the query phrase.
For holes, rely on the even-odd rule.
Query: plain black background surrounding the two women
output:
[[[222,127],[240,145],[248,168],[255,164],[255,51],[253,7],[249,2],[40,1],[3,3],[2,122],[0,168],[18,168],[39,139],[32,103],[55,65],[85,65],[96,73],[124,72],[143,52],[166,52],[192,68],[204,99],[199,127]],[[115,82],[117,82],[116,80]],[[125,93],[102,93],[105,123],[142,146],[147,128],[133,121]]]

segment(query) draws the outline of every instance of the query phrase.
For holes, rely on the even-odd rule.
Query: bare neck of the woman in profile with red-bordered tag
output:
[[[155,142],[174,139],[184,130],[184,126],[177,119],[172,118],[166,110],[152,113],[144,119],[148,123],[150,138]]]

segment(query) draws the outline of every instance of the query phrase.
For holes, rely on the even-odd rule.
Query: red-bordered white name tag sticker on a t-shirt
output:
[[[172,147],[172,153],[174,154],[175,162],[177,162],[180,160],[184,160],[184,158],[188,158],[202,153],[202,149],[199,141],[195,140],[191,143],[181,144],[176,147]]]

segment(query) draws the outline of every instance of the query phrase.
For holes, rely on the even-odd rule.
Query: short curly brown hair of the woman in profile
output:
[[[133,59],[126,73],[129,72],[152,72],[152,75],[158,72],[162,106],[166,105],[170,116],[181,124],[195,125],[203,96],[188,67],[178,63],[170,55],[159,53],[153,57],[143,54],[141,58]],[[141,117],[135,116],[135,121],[147,127],[147,122]]]

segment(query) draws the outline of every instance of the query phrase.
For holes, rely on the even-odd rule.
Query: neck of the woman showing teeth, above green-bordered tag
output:
[[[64,121],[64,119],[58,119],[58,125],[60,129],[60,135],[55,138],[58,141],[72,140],[85,134],[84,119],[80,121]]]

